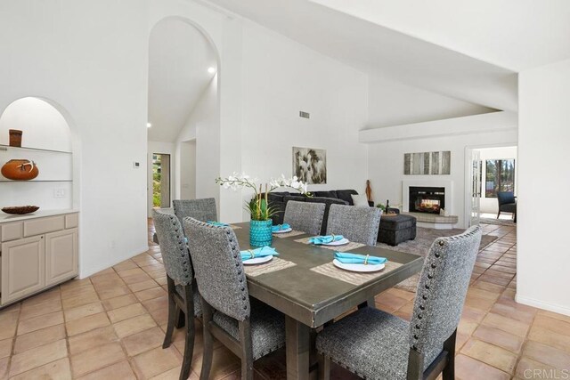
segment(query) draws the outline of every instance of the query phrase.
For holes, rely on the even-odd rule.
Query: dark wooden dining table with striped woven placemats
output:
[[[241,250],[249,245],[249,223],[232,225]],[[311,235],[292,230],[274,234],[278,256],[268,263],[244,265],[249,295],[285,316],[287,378],[315,374],[314,336],[322,327],[359,305],[374,307],[374,297],[421,271],[424,258],[382,247],[351,242],[346,246],[310,244]],[[381,271],[345,271],[333,265],[336,251],[387,258]],[[358,327],[354,327],[358,328]],[[314,376],[311,376],[314,377]]]

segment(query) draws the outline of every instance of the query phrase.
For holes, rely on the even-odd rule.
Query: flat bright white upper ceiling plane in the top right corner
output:
[[[310,0],[501,68],[570,58],[567,0]]]

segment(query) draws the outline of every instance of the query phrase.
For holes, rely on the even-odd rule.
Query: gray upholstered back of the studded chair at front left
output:
[[[193,218],[183,219],[199,294],[217,311],[233,319],[249,317],[248,282],[240,246],[230,227],[218,227]]]

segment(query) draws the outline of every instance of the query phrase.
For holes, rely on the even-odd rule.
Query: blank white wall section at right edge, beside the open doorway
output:
[[[570,60],[519,75],[517,302],[570,315]]]

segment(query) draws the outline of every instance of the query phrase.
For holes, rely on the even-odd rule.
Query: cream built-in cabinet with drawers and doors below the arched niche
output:
[[[1,306],[77,276],[77,216],[0,222]]]

